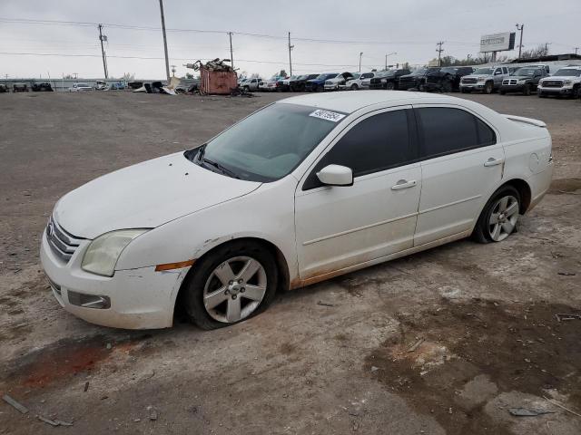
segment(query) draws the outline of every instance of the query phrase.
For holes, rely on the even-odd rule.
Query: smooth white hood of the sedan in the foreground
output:
[[[178,152],[74,189],[58,201],[54,219],[74,236],[92,239],[114,229],[159,227],[259,186],[203,169]]]

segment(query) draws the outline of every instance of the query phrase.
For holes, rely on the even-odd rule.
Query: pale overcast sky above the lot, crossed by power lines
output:
[[[233,32],[234,66],[264,77],[281,69],[289,71],[287,32],[294,44],[293,73],[357,71],[360,52],[363,71],[383,67],[385,54],[393,52],[397,54],[389,56],[389,64],[428,63],[437,56],[438,41],[445,42],[443,55],[476,56],[481,35],[514,32],[517,23],[525,24],[524,49],[551,43],[550,53],[574,53],[574,47],[581,46],[581,0],[164,0],[163,4],[170,63],[180,76],[192,72],[183,63],[230,57],[229,31]],[[25,24],[14,19],[87,24]],[[0,76],[78,73],[79,77],[102,77],[101,48],[93,23],[104,24],[111,76],[165,76],[158,0],[0,0]],[[79,54],[94,57],[75,56]]]

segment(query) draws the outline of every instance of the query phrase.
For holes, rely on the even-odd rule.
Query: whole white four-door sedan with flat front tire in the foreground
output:
[[[472,236],[500,242],[545,195],[542,121],[415,92],[270,104],[201,147],[61,198],[41,260],[67,311],[121,328],[212,329],[277,291]]]

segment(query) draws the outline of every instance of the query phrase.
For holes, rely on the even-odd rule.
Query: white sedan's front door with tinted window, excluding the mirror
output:
[[[405,107],[363,116],[299,183],[295,223],[303,283],[413,247],[421,169],[413,162],[410,116]],[[353,185],[321,185],[316,173],[330,164],[350,167]]]

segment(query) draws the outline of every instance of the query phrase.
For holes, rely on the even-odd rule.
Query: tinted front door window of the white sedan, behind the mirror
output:
[[[408,111],[387,111],[353,126],[311,170],[303,190],[322,186],[317,172],[327,165],[347,166],[353,177],[395,168],[413,160]]]

